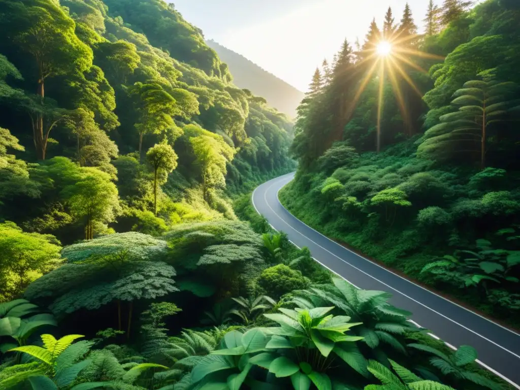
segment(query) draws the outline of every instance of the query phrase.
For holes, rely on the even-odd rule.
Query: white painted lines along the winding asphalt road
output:
[[[470,332],[474,333],[475,335],[477,335],[477,336],[479,336],[479,337],[482,337],[482,339],[484,339],[484,340],[490,342],[491,344],[498,346],[499,348],[505,350],[506,352],[512,354],[513,356],[515,356],[515,357],[517,357],[517,358],[520,358],[520,356],[518,356],[518,355],[515,354],[514,352],[511,352],[509,349],[506,349],[506,348],[504,348],[503,346],[501,346],[501,345],[495,343],[494,341],[487,339],[487,337],[485,337],[485,336],[483,336],[483,335],[481,335],[481,334],[479,334],[479,333],[477,333],[477,332],[475,332],[475,331],[473,331],[473,330],[471,330],[471,329],[469,329],[469,328],[466,328],[464,325],[458,323],[457,321],[454,321],[454,320],[452,320],[451,318],[446,317],[445,315],[443,315],[443,314],[439,313],[438,311],[436,311],[436,310],[434,310],[434,309],[432,309],[432,308],[430,308],[430,307],[428,307],[428,306],[422,304],[421,302],[419,302],[419,301],[417,301],[417,300],[414,300],[412,297],[410,297],[410,296],[408,296],[408,295],[406,295],[406,294],[400,292],[399,290],[393,288],[392,286],[386,284],[385,282],[382,282],[381,280],[379,280],[379,279],[373,277],[372,275],[367,274],[367,272],[365,272],[365,271],[363,271],[363,270],[357,268],[356,266],[354,266],[354,265],[348,263],[347,261],[345,261],[345,260],[342,259],[341,257],[336,256],[334,253],[332,253],[332,252],[330,252],[329,250],[323,248],[323,246],[321,246],[320,244],[314,242],[313,240],[311,240],[310,238],[308,238],[307,236],[305,236],[303,233],[301,233],[300,231],[296,230],[296,229],[293,228],[291,225],[289,225],[289,224],[288,224],[288,223],[287,223],[287,222],[286,222],[282,217],[280,217],[280,216],[279,216],[279,215],[278,215],[278,214],[277,214],[277,213],[272,209],[272,207],[271,207],[271,206],[269,205],[269,203],[267,202],[267,191],[269,191],[269,189],[271,189],[271,187],[274,186],[275,184],[278,184],[279,181],[283,181],[283,180],[286,180],[286,179],[285,179],[285,178],[281,178],[280,180],[275,181],[274,183],[272,183],[272,184],[271,184],[271,185],[270,185],[270,186],[265,190],[265,192],[264,192],[264,200],[265,200],[265,204],[269,207],[269,209],[270,209],[270,210],[271,210],[271,211],[272,211],[272,212],[273,212],[273,213],[274,213],[274,214],[275,214],[275,215],[276,215],[276,216],[277,216],[277,217],[278,217],[278,218],[279,218],[279,219],[280,219],[280,220],[281,220],[285,225],[289,226],[289,227],[290,227],[291,229],[293,229],[296,233],[300,234],[301,236],[303,236],[304,238],[306,238],[306,239],[309,240],[310,242],[312,242],[312,243],[314,243],[315,245],[319,246],[319,247],[320,247],[321,249],[323,249],[324,251],[330,253],[332,256],[334,256],[334,257],[340,259],[342,262],[344,262],[344,263],[348,264],[349,266],[351,266],[351,267],[357,269],[358,271],[360,271],[360,272],[362,272],[363,274],[365,274],[365,275],[371,277],[372,279],[374,279],[374,280],[380,282],[381,284],[385,285],[385,286],[388,287],[389,289],[392,289],[392,290],[398,292],[399,294],[401,294],[401,295],[407,297],[409,300],[411,300],[411,301],[413,301],[413,302],[415,302],[415,303],[418,303],[419,305],[421,305],[421,306],[423,306],[423,307],[425,307],[425,308],[427,308],[427,309],[433,311],[435,314],[438,314],[439,316],[446,318],[447,320],[449,320],[449,321],[451,321],[451,322],[457,324],[457,325],[460,326],[461,328],[464,328],[464,329],[466,329],[467,331],[470,331]],[[292,178],[291,178],[291,180],[292,180]],[[291,180],[288,180],[288,183],[289,183],[289,181],[291,181]],[[258,214],[261,214],[261,213],[258,212],[258,209],[257,209],[257,207],[256,207],[256,205],[255,205],[255,202],[254,202],[254,196],[255,196],[255,192],[256,192],[257,189],[258,189],[258,187],[256,187],[256,188],[254,189],[253,194],[252,194],[252,197],[251,197],[251,200],[252,200],[253,207],[254,207],[254,209],[256,210],[256,212],[257,212]],[[281,188],[280,188],[280,189],[281,189]],[[283,204],[281,204],[280,199],[278,198],[278,193],[280,192],[280,189],[277,191],[277,194],[276,194],[277,199],[278,199],[278,202],[280,203],[280,205],[283,207],[283,209],[284,209],[285,211],[287,211],[289,214],[291,214],[291,213],[289,212],[289,210],[285,209],[285,207],[283,206]],[[292,214],[291,214],[291,215],[292,215]],[[296,219],[297,219],[297,218],[296,218]],[[300,220],[298,219],[298,221],[300,221]],[[338,244],[338,243],[335,242],[335,241],[332,241],[332,240],[329,239],[327,236],[324,236],[322,233],[320,233],[320,232],[317,231],[316,229],[314,229],[314,228],[308,226],[307,224],[303,223],[302,221],[300,221],[300,222],[301,222],[302,224],[304,224],[305,226],[307,226],[308,228],[314,230],[314,231],[315,231],[316,233],[318,233],[320,236],[326,238],[328,241],[331,241],[331,242],[335,243],[336,245],[340,246],[341,248],[346,249],[346,250],[349,251],[350,253],[353,253],[353,254],[355,254],[355,255],[361,257],[362,259],[364,259],[364,260],[370,262],[369,259],[367,259],[367,258],[365,258],[365,257],[363,257],[363,256],[358,255],[357,253],[355,253],[355,252],[349,250],[348,248],[345,248],[344,246]],[[270,225],[274,230],[278,231],[274,226],[272,226],[271,224],[269,224],[269,225]],[[299,246],[297,246],[296,244],[294,244],[292,241],[291,241],[291,243],[292,243],[293,245],[295,245],[296,248],[301,249]],[[314,259],[315,261],[317,261],[316,258],[313,257],[313,259]],[[354,285],[354,287],[358,288],[355,284],[351,283],[350,281],[348,281],[347,279],[345,279],[343,276],[341,276],[340,274],[338,274],[338,273],[335,272],[334,270],[330,269],[329,267],[327,267],[326,265],[322,264],[322,263],[319,262],[319,261],[317,261],[317,262],[318,262],[319,264],[321,264],[323,267],[325,267],[325,268],[327,268],[328,270],[330,270],[331,272],[333,272],[334,274],[336,274],[337,276],[340,276],[341,278],[343,278],[343,279],[344,279],[345,281],[347,281],[348,283]],[[370,263],[372,263],[372,262],[370,262]],[[375,263],[372,263],[372,264],[375,264]],[[501,328],[503,328],[503,329],[505,329],[505,330],[510,331],[511,333],[513,333],[513,334],[515,334],[515,335],[517,335],[517,336],[520,336],[518,333],[513,332],[511,329],[505,328],[505,327],[501,326],[500,324],[498,324],[498,323],[496,323],[496,322],[493,322],[493,321],[491,321],[490,319],[488,319],[488,318],[486,318],[486,317],[484,317],[484,316],[481,316],[481,315],[479,315],[479,314],[477,314],[477,313],[474,313],[474,311],[472,311],[472,310],[469,310],[469,309],[467,309],[467,308],[465,308],[465,307],[463,307],[463,306],[461,306],[461,305],[458,305],[458,304],[456,304],[456,303],[454,303],[454,302],[451,302],[451,301],[448,300],[447,298],[445,298],[445,297],[443,297],[443,296],[440,296],[440,295],[438,295],[438,294],[436,294],[436,293],[434,293],[434,292],[432,292],[432,291],[430,291],[430,290],[427,290],[427,289],[425,289],[424,287],[422,287],[421,285],[419,285],[419,284],[415,284],[415,283],[413,283],[412,281],[410,281],[410,280],[408,280],[408,279],[406,279],[406,278],[403,278],[402,276],[397,275],[397,274],[395,274],[394,272],[392,272],[392,271],[390,271],[390,270],[388,270],[388,269],[386,269],[386,268],[384,268],[384,267],[381,267],[379,264],[375,264],[375,265],[378,266],[378,267],[380,267],[380,268],[382,268],[382,269],[384,269],[384,270],[386,270],[386,271],[388,271],[388,272],[391,272],[393,275],[396,275],[396,276],[398,276],[399,278],[401,278],[401,279],[403,279],[403,280],[406,280],[407,282],[412,283],[413,285],[415,285],[415,286],[417,286],[417,287],[420,287],[421,289],[423,289],[423,290],[425,290],[425,291],[428,291],[428,292],[430,292],[430,293],[432,293],[432,294],[434,294],[434,295],[436,295],[436,296],[438,296],[438,297],[440,297],[440,298],[443,298],[445,301],[450,302],[450,303],[452,303],[453,305],[456,305],[456,306],[458,306],[458,307],[460,307],[460,308],[462,308],[462,309],[464,309],[464,310],[466,310],[466,311],[469,311],[470,313],[472,313],[472,314],[474,314],[474,315],[476,315],[476,316],[479,316],[479,317],[481,317],[481,318],[484,318],[485,320],[491,322],[492,324],[495,324],[496,326],[499,326],[499,327],[501,327]],[[419,324],[418,324],[417,322],[412,321],[412,320],[410,320],[410,321],[411,321],[412,323],[414,323],[416,326],[419,326]],[[421,326],[419,326],[419,327],[422,328]],[[436,336],[436,335],[434,335],[434,334],[432,334],[432,333],[428,333],[428,334],[429,334],[430,336],[434,337],[435,339],[440,340],[440,338],[439,338],[438,336]],[[450,348],[452,348],[452,349],[454,349],[454,350],[457,350],[457,348],[454,347],[453,345],[448,344],[448,343],[446,343],[446,342],[444,342],[444,343],[445,343],[448,347],[450,347]],[[480,360],[478,360],[478,359],[475,360],[475,361],[476,361],[479,365],[481,365],[482,367],[488,369],[489,371],[493,372],[494,374],[496,374],[497,376],[499,376],[500,378],[502,378],[504,381],[506,381],[506,382],[510,383],[511,385],[513,385],[515,388],[520,389],[520,386],[519,386],[519,385],[517,385],[516,383],[514,383],[514,382],[511,381],[510,379],[506,378],[504,375],[500,374],[500,373],[497,372],[496,370],[493,370],[491,367],[487,366],[487,365],[486,365],[485,363],[483,363],[482,361],[480,361]]]

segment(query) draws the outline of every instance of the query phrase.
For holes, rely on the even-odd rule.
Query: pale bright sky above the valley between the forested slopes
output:
[[[363,42],[388,6],[396,22],[410,4],[419,31],[429,0],[173,0],[184,18],[212,39],[306,92],[323,58],[345,38]],[[434,0],[440,3],[441,0]]]

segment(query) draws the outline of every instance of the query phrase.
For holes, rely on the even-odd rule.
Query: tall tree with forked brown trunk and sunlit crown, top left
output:
[[[92,50],[75,35],[75,23],[50,0],[0,1],[0,23],[6,38],[28,53],[37,80],[37,106],[31,110],[34,146],[38,159],[45,160],[49,133],[56,121],[47,120],[45,81],[63,74],[79,75],[92,66]]]

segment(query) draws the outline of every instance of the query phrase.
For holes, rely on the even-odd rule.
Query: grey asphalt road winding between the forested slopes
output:
[[[287,233],[300,248],[307,246],[317,262],[357,287],[392,293],[392,304],[411,311],[415,323],[451,348],[472,345],[479,363],[520,389],[520,334],[372,263],[305,225],[278,200],[278,191],[293,177],[294,173],[280,176],[253,192],[256,211],[272,227]]]

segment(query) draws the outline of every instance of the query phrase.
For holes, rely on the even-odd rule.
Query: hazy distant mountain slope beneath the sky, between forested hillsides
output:
[[[296,117],[296,108],[305,96],[303,92],[235,51],[212,40],[206,43],[217,52],[223,62],[228,64],[236,86],[249,89],[253,94],[264,97],[269,106],[275,107],[290,118]]]

